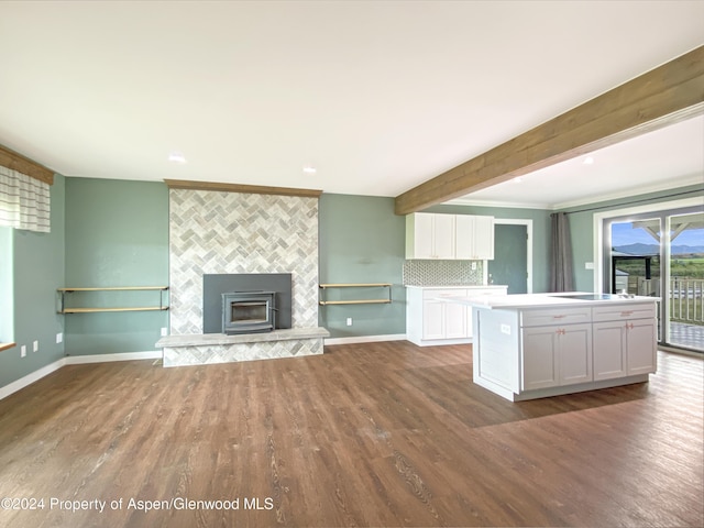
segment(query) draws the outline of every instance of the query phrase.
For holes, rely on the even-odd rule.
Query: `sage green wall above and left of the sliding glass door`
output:
[[[628,198],[617,200],[605,200],[564,209],[569,212],[570,234],[572,237],[573,261],[574,261],[574,280],[576,289],[592,292],[594,289],[594,272],[584,268],[584,263],[594,262],[594,215],[603,213],[609,210],[624,209],[628,206],[652,205],[653,210],[657,205],[664,201],[675,201],[686,198],[704,197],[704,186],[692,185],[668,189],[660,193],[649,193],[644,195],[635,195]],[[704,205],[704,199],[702,200]],[[588,210],[584,210],[588,209]],[[601,263],[594,262],[595,266]]]

